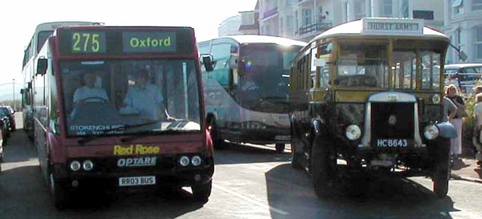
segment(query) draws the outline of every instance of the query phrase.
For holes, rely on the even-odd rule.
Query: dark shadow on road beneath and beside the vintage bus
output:
[[[402,178],[370,178],[365,196],[319,200],[309,176],[291,164],[278,165],[265,176],[269,205],[289,212],[271,211],[272,218],[452,218],[450,212],[459,211],[450,197],[439,199],[419,183]]]

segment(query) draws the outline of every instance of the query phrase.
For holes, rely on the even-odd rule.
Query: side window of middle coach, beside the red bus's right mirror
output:
[[[208,78],[217,80],[222,87],[229,87],[229,62],[231,58],[231,44],[216,44],[211,49],[214,59],[214,70],[208,74]]]

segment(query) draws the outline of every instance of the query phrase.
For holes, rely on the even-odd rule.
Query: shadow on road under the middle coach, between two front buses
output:
[[[216,165],[235,163],[286,162],[291,158],[289,152],[277,153],[270,146],[248,146],[239,143],[225,143],[226,148],[214,152]]]

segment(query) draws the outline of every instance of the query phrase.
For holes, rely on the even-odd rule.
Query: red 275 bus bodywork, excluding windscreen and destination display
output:
[[[80,30],[80,31],[175,31],[186,30],[191,32],[189,39],[191,41],[191,53],[176,54],[102,54],[102,55],[85,55],[85,54],[62,54],[61,41],[59,35],[64,30]],[[191,186],[196,189],[205,189],[204,194],[194,194],[196,198],[209,196],[211,192],[211,178],[213,175],[213,146],[205,119],[204,98],[202,96],[202,80],[200,76],[200,67],[198,65],[198,51],[196,48],[196,38],[191,27],[61,27],[56,30],[53,36],[45,43],[37,59],[47,58],[48,69],[45,74],[37,74],[34,76],[33,91],[34,97],[34,144],[39,154],[39,163],[45,180],[52,181],[62,186],[64,190],[74,190],[89,188],[92,183],[98,183],[101,186],[115,186],[116,178],[128,176],[156,176],[155,187],[184,187]],[[87,141],[82,141],[85,137],[72,137],[67,134],[67,117],[63,107],[66,98],[63,94],[63,82],[61,80],[61,72],[59,62],[71,60],[151,60],[151,59],[186,59],[193,60],[195,63],[196,79],[198,83],[198,111],[200,117],[200,130],[198,132],[187,133],[167,133],[167,134],[150,134],[143,135],[129,141],[123,141],[125,137],[132,135],[106,135],[94,137]],[[53,117],[57,117],[54,119]],[[54,127],[54,123],[58,127]],[[88,138],[88,137],[87,137]],[[129,147],[155,148],[154,152],[147,154],[116,154],[116,148]],[[127,159],[129,157],[157,157],[155,163],[156,169],[147,168],[127,168],[123,172],[119,172],[116,161],[119,159]],[[183,156],[191,159],[194,156],[202,158],[199,166],[193,166],[188,163],[187,166],[180,166],[180,158]],[[72,171],[70,165],[72,161],[93,161],[94,169],[92,171]],[[190,161],[189,161],[190,162]],[[158,168],[157,168],[158,167]],[[165,180],[165,181],[164,181]],[[76,182],[72,183],[72,182]],[[90,183],[90,184],[89,184]],[[83,186],[82,186],[83,185]],[[209,192],[206,189],[209,185]],[[65,192],[65,191],[64,191]],[[196,193],[196,192],[195,192]],[[208,194],[209,193],[209,194]],[[55,203],[58,197],[54,195]],[[64,197],[65,198],[65,197]],[[65,202],[65,200],[63,200]],[[63,202],[61,202],[63,203]],[[61,204],[60,203],[60,204]],[[59,205],[60,205],[59,204]],[[59,206],[57,206],[59,207]]]

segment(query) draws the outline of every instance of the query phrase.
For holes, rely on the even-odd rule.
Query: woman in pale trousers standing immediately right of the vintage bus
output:
[[[465,112],[465,103],[460,95],[457,95],[457,87],[454,84],[450,84],[446,91],[447,98],[457,106],[457,114],[450,120],[450,123],[457,129],[457,137],[453,138],[450,142],[450,154],[452,159],[458,159],[459,154],[462,153],[462,125],[463,117],[467,117]]]

